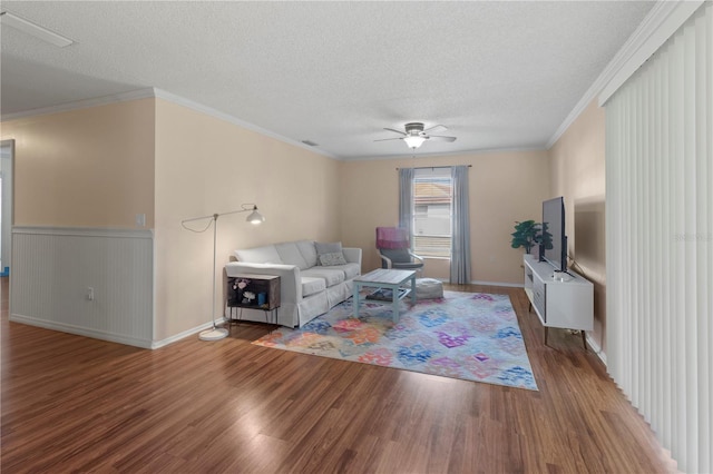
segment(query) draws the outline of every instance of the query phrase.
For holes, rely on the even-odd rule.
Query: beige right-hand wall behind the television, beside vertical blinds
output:
[[[606,353],[605,120],[596,100],[549,151],[553,195],[565,197],[569,256],[594,283],[593,337]]]

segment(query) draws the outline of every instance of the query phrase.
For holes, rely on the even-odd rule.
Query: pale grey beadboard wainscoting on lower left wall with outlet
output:
[[[16,227],[10,320],[152,347],[150,230]]]

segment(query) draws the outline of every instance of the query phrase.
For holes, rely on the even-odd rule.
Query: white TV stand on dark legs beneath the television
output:
[[[585,350],[587,343],[585,330],[594,328],[594,285],[576,273],[569,270],[555,277],[555,269],[547,261],[538,261],[524,257],[525,293],[530,307],[545,326],[545,345],[547,329],[559,327],[579,329]]]

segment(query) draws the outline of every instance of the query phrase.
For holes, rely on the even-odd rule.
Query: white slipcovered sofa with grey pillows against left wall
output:
[[[340,260],[339,253],[342,265],[321,265],[320,260]],[[341,243],[297,240],[235,250],[235,257],[237,261],[225,265],[228,277],[280,276],[277,324],[289,327],[302,326],[348,299],[354,277],[361,275],[361,248],[342,248]],[[265,315],[258,309],[243,309],[242,318],[264,322]]]

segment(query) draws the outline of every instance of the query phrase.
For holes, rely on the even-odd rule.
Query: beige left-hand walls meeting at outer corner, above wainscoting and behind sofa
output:
[[[340,239],[341,162],[158,99],[2,122],[16,140],[14,224],[155,230],[154,339],[211,319],[213,234],[180,220],[256,203],[219,219],[222,267],[233,249],[300,238]],[[201,227],[195,223],[195,227]]]

